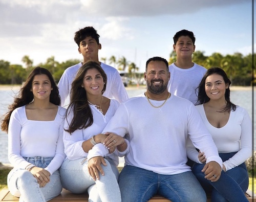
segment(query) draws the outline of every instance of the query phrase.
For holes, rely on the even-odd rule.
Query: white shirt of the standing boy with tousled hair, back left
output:
[[[77,71],[81,66],[82,66],[81,62],[73,66],[70,66],[62,74],[58,82],[61,106],[64,106],[67,98],[68,98],[68,104],[70,103],[69,99],[70,99],[71,84],[75,79]],[[112,66],[106,65],[102,62],[100,66],[104,70],[107,76],[106,90],[103,96],[107,98],[115,98],[120,103],[126,101],[128,99],[128,95],[118,71]]]

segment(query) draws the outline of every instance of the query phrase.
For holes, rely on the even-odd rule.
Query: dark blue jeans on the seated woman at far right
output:
[[[222,161],[230,159],[236,152],[219,153]],[[226,172],[222,171],[217,182],[210,182],[204,178],[204,173],[201,172],[204,164],[195,163],[192,167],[193,173],[198,178],[207,194],[211,194],[212,202],[243,202],[248,201],[245,197],[245,192],[248,189],[249,177],[245,163],[232,168]]]

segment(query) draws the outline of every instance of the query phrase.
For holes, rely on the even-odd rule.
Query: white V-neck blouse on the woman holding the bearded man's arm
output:
[[[72,134],[69,132],[64,131],[63,132],[63,142],[65,146],[65,153],[67,155],[67,158],[69,160],[76,160],[80,158],[87,158],[88,153],[85,152],[82,148],[82,143],[86,140],[89,140],[91,137],[95,136],[96,134],[99,134],[102,132],[105,125],[110,121],[110,119],[114,116],[116,109],[119,106],[119,102],[115,99],[111,99],[110,106],[108,111],[106,111],[106,114],[103,115],[100,113],[100,111],[96,108],[94,105],[90,105],[90,108],[92,110],[93,114],[93,124],[90,127],[87,127],[86,129],[77,129]],[[68,113],[67,120],[65,120],[64,128],[68,128],[69,123],[71,123],[71,120],[73,119],[73,113]],[[89,152],[91,152],[91,157],[95,156],[95,153],[98,153],[102,149],[105,154],[102,156],[109,156],[116,165],[118,165],[118,155],[116,153],[108,154],[109,151],[106,149],[103,144],[99,143],[96,144],[93,149],[91,149]]]

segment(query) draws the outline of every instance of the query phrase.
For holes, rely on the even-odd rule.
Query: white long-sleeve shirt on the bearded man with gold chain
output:
[[[150,100],[159,106],[164,101]],[[103,132],[125,136],[130,152],[125,165],[132,165],[159,174],[191,171],[186,165],[186,139],[205,150],[207,161],[222,160],[209,132],[193,103],[171,95],[159,108],[151,106],[143,95],[122,103]]]

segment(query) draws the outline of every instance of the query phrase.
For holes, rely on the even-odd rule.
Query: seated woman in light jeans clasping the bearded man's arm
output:
[[[64,188],[72,193],[88,191],[90,201],[121,201],[117,154],[127,152],[127,143],[111,134],[115,141],[106,145],[118,149],[114,153],[110,150],[112,154],[102,144],[108,134],[101,132],[119,106],[118,101],[102,96],[105,88],[106,74],[100,65],[94,61],[84,63],[72,82],[63,133],[67,158],[61,165],[60,175]],[[101,151],[104,150],[109,155],[103,158]],[[103,164],[103,170],[98,168],[100,173],[91,166],[98,159]]]

